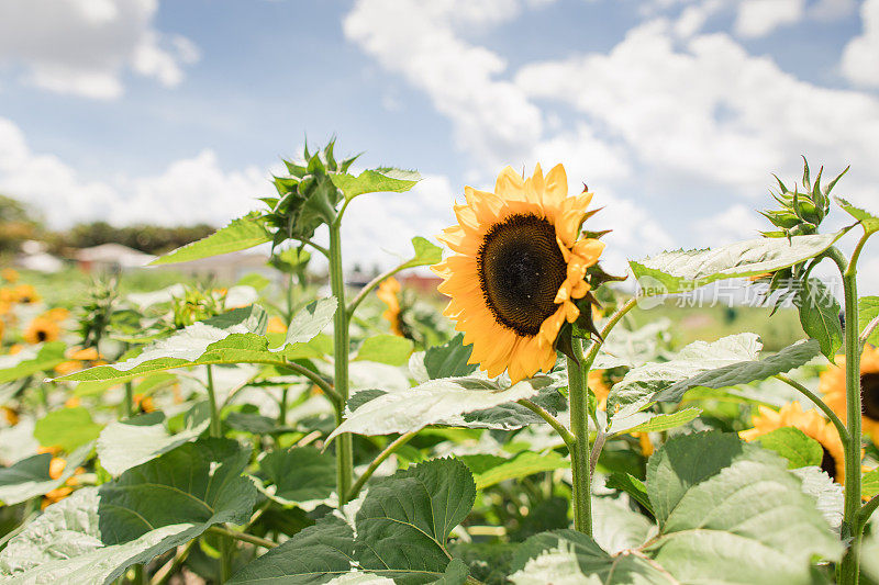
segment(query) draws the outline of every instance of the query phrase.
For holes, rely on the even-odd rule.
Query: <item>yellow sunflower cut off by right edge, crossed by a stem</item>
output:
[[[819,390],[827,406],[846,420],[845,356],[836,356],[836,365],[821,373]],[[865,346],[860,356],[860,401],[861,428],[879,447],[879,348],[872,346]]]

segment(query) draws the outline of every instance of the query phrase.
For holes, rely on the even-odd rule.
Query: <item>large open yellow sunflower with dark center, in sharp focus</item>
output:
[[[494,192],[465,187],[458,224],[439,239],[457,252],[433,267],[452,297],[444,315],[472,344],[470,363],[518,382],[556,362],[561,326],[580,316],[575,304],[590,290],[587,269],[604,244],[580,238],[592,193],[568,196],[565,168],[527,179],[507,167]],[[590,314],[591,316],[591,314]]]

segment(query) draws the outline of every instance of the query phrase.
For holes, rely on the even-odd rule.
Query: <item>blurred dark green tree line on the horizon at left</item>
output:
[[[146,254],[163,254],[214,232],[208,224],[166,227],[132,225],[115,227],[107,222],[77,224],[64,232],[47,229],[42,217],[20,201],[0,195],[0,254],[14,254],[29,239],[44,241],[49,251],[89,248],[101,244],[122,244]]]

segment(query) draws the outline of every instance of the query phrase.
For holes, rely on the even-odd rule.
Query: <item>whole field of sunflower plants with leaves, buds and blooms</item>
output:
[[[334,147],[153,262],[269,245],[283,286],[71,305],[0,273],[0,583],[879,583],[879,214],[832,194],[845,172],[779,180],[763,237],[614,274],[601,194],[507,167],[354,286],[349,204],[420,177]],[[429,268],[437,294],[405,284]],[[721,282],[798,340],[685,345],[648,311]]]

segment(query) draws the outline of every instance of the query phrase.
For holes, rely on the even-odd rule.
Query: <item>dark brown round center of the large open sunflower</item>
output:
[[[494,319],[521,336],[534,336],[556,312],[556,293],[567,263],[553,224],[536,215],[513,215],[482,240],[479,284]]]

